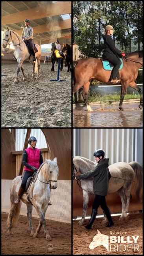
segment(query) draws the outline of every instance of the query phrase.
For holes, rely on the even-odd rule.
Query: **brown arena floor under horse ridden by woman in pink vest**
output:
[[[30,237],[27,217],[19,217],[17,228],[12,235],[7,234],[6,219],[2,214],[2,255],[65,255],[71,254],[71,224],[46,220],[46,226],[52,241],[46,241],[44,229],[41,228],[38,238]],[[32,218],[34,231],[39,219]]]

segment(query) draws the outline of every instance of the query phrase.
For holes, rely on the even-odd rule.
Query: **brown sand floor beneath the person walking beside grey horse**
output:
[[[129,215],[126,220],[119,220],[119,216],[115,216],[112,218],[114,221],[114,226],[111,227],[105,227],[105,223],[102,221],[102,218],[96,218],[92,230],[87,230],[84,226],[79,226],[78,221],[73,221],[73,254],[142,254],[142,214]],[[89,220],[86,220],[84,224],[86,225],[88,222]],[[95,247],[93,250],[89,249],[89,245],[92,242],[93,237],[96,236],[96,234],[98,234],[97,230],[99,230],[102,234],[109,236],[109,251],[107,251],[107,249],[103,245]],[[110,234],[110,232],[114,231],[120,233],[117,235]],[[122,234],[122,232],[124,232],[124,234]],[[118,236],[124,236],[124,241],[126,243],[121,242],[120,240],[120,243],[113,243],[113,249],[110,249],[110,236],[116,236],[116,239],[118,239]],[[128,236],[130,238],[130,241],[133,241],[133,243],[127,243]],[[135,245],[138,244],[139,251],[134,250],[134,240],[132,239],[132,236],[139,236],[137,239],[137,243],[135,243]],[[127,245],[129,245],[128,250]]]

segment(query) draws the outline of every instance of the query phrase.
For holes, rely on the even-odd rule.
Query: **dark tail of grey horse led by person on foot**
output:
[[[138,162],[130,162],[129,165],[135,171],[135,192],[138,200],[142,202],[142,199],[140,198],[140,190],[142,188],[142,166]]]

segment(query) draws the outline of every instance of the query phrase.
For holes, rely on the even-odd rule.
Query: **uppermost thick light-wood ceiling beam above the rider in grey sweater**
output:
[[[9,4],[9,3],[8,3]],[[9,4],[11,5],[11,4]],[[35,7],[32,9],[18,11],[18,13],[11,13],[2,16],[2,25],[22,22],[26,17],[31,20],[41,19],[49,16],[56,16],[61,14],[71,13],[71,2],[55,2],[46,4],[44,6]]]

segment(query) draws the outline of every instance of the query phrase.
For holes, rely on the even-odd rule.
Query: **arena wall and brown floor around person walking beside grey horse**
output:
[[[125,141],[125,143],[124,143]],[[103,148],[105,157],[109,158],[109,168],[113,163],[137,161],[142,165],[142,129],[74,129],[73,156],[81,156],[94,161],[93,152],[96,148]],[[129,147],[128,147],[129,145]],[[75,164],[73,158],[73,164]],[[80,166],[80,164],[79,164]],[[75,168],[76,167],[76,168]],[[77,176],[73,165],[73,172]],[[78,171],[78,170],[77,170]],[[85,171],[86,172],[86,171]],[[81,174],[78,172],[78,175]],[[112,179],[112,178],[111,178]],[[84,180],[81,180],[84,181]],[[135,193],[135,182],[131,188],[131,199],[127,217],[120,218],[122,202],[118,192],[108,193],[105,197],[107,206],[111,211],[114,226],[106,227],[101,207],[93,223],[92,230],[87,230],[94,202],[94,194],[90,194],[86,219],[81,225],[83,213],[83,194],[86,191],[80,188],[73,180],[73,254],[143,254],[142,253],[142,202],[138,201]],[[140,191],[142,200],[142,189]],[[85,201],[86,203],[86,201]],[[112,238],[113,236],[113,238]],[[95,237],[95,238],[94,238]],[[134,241],[133,237],[136,239]],[[107,240],[106,240],[107,239]],[[113,239],[113,240],[111,240]],[[107,243],[106,243],[107,241]],[[112,243],[113,241],[113,243]],[[91,248],[89,248],[91,243]],[[93,247],[92,247],[93,245]]]

